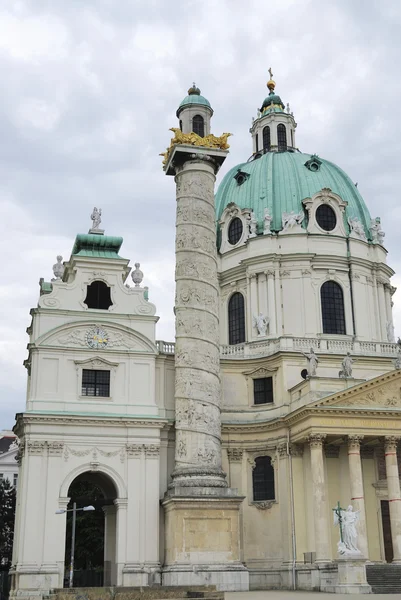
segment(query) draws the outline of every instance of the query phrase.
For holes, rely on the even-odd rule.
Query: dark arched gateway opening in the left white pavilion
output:
[[[68,587],[71,561],[72,508],[93,506],[76,512],[74,544],[74,587],[101,587],[116,584],[116,507],[118,497],[112,479],[101,472],[85,472],[69,486],[64,586]]]

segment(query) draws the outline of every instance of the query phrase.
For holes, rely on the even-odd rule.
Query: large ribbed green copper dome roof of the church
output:
[[[239,170],[249,177],[238,180]],[[327,160],[301,152],[267,152],[256,160],[231,169],[216,194],[216,218],[219,220],[226,206],[235,202],[240,208],[254,211],[260,232],[263,231],[264,211],[268,208],[273,217],[271,230],[280,231],[282,214],[303,211],[302,200],[310,198],[322,188],[330,188],[348,203],[345,211],[346,230],[349,230],[348,218],[357,217],[370,239],[369,211],[348,175]],[[303,226],[306,226],[305,221]]]

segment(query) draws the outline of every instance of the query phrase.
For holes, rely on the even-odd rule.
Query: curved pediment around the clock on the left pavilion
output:
[[[102,352],[114,350],[157,354],[156,346],[144,335],[108,321],[69,323],[44,334],[36,344],[40,347],[89,349],[88,334],[97,327],[107,334],[107,343],[98,348]]]

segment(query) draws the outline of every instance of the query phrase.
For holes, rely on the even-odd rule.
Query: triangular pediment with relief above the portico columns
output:
[[[391,371],[314,404],[319,408],[401,409],[401,371]]]

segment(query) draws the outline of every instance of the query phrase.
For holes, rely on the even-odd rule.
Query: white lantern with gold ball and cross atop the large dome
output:
[[[294,151],[295,128],[297,126],[294,116],[287,110],[284,102],[276,94],[276,82],[269,69],[270,79],[267,82],[269,95],[263,100],[258,109],[257,118],[253,120],[250,133],[253,140],[253,154],[265,152]],[[288,105],[287,105],[288,106]]]

